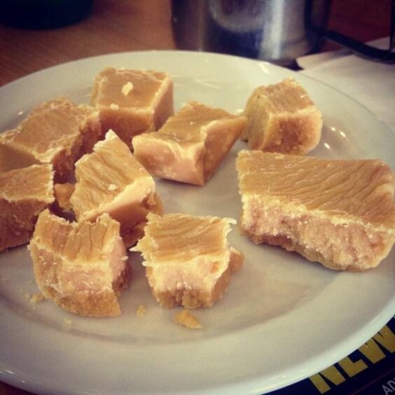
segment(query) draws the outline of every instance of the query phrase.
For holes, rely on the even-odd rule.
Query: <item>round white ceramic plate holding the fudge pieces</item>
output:
[[[92,78],[104,67],[168,71],[176,109],[189,99],[240,111],[257,85],[293,76],[324,113],[324,133],[312,153],[326,158],[382,158],[395,167],[395,135],[368,109],[328,86],[288,69],[205,53],[142,52],[62,64],[0,89],[0,130],[32,106],[57,95],[88,102]],[[158,181],[166,212],[238,218],[238,142],[203,188]],[[0,255],[0,380],[48,394],[261,394],[302,380],[359,347],[395,311],[394,251],[375,269],[333,272],[296,254],[256,246],[239,235],[244,268],[211,309],[195,310],[204,328],[172,322],[174,310],[153,300],[136,254],[134,279],[120,297],[123,314],[88,319],[36,293],[26,247]],[[138,305],[147,312],[138,317]]]

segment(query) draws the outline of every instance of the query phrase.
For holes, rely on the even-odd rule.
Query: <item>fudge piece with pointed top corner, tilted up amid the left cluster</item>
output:
[[[112,131],[93,152],[76,162],[76,184],[70,198],[77,221],[95,221],[106,212],[120,222],[125,244],[143,233],[148,212],[162,212],[155,181]]]

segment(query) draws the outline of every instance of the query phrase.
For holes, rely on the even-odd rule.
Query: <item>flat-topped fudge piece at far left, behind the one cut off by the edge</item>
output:
[[[0,134],[0,144],[52,164],[55,181],[62,182],[101,135],[97,111],[60,97],[36,106],[15,130]]]

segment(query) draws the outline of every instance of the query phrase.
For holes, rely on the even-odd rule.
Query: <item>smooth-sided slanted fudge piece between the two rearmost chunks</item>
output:
[[[246,121],[189,102],[158,132],[135,137],[134,155],[153,176],[202,186],[240,137]]]

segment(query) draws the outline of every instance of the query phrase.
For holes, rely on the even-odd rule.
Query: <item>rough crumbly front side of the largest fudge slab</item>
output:
[[[296,251],[334,270],[363,271],[377,266],[391,251],[394,230],[361,221],[336,221],[322,212],[297,212],[281,202],[259,197],[243,200],[242,233]]]

